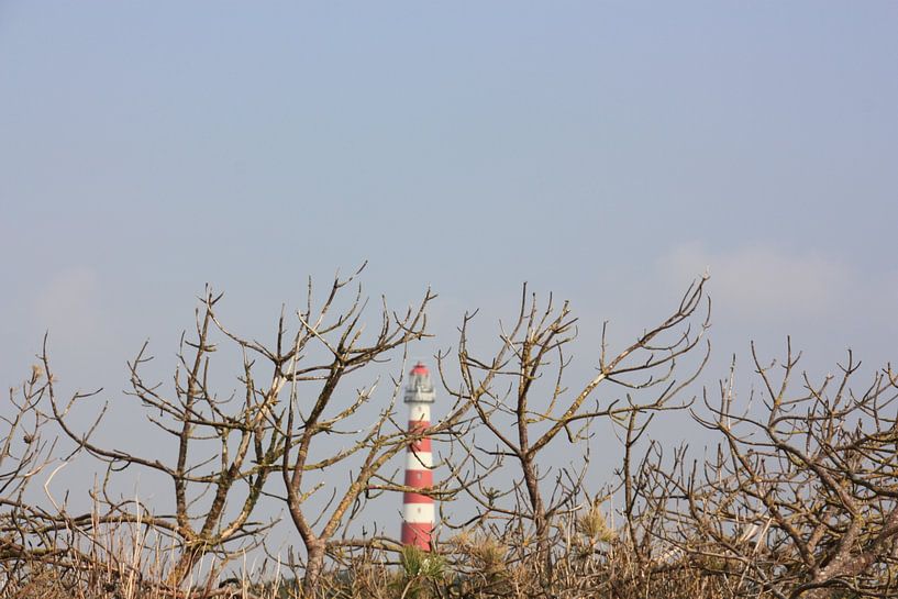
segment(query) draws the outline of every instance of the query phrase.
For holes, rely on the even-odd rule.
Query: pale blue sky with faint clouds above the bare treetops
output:
[[[439,341],[522,281],[584,347],[706,267],[716,359],[898,362],[898,3],[0,0],[0,375],[174,367],[204,282],[268,335],[369,260]],[[575,374],[589,371],[584,355]],[[747,377],[747,369],[746,369]]]

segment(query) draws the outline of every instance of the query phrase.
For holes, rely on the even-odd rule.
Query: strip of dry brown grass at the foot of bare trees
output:
[[[407,547],[392,562],[358,556],[332,564],[317,589],[317,597],[345,599],[616,597],[647,599],[723,597],[720,585],[697,572],[665,567],[645,568],[632,559],[613,539],[608,524],[588,511],[578,521],[588,545],[572,545],[568,555],[557,555],[557,576],[551,585],[541,581],[537,564],[511,561],[506,541],[483,532],[463,532],[440,547],[423,553]],[[133,535],[130,539],[128,535]],[[605,536],[602,536],[605,535]],[[152,546],[140,529],[122,525],[107,531],[108,543],[92,555],[70,547],[66,555],[45,562],[36,556],[0,570],[3,598],[27,599],[299,599],[301,587],[286,570],[250,575],[237,572],[230,578],[217,574],[211,564],[199,568],[196,579],[177,588],[166,584],[167,569],[177,556]],[[152,536],[152,535],[151,535]],[[602,540],[598,540],[602,539]],[[100,540],[95,539],[99,543]],[[171,551],[168,548],[168,551]],[[212,573],[209,576],[209,573]]]

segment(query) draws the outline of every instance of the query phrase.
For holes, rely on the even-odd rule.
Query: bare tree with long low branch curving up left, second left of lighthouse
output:
[[[173,440],[176,447],[173,462],[160,459],[158,453],[137,454],[130,450],[110,448],[92,441],[93,433],[107,410],[100,410],[95,424],[78,432],[69,423],[69,414],[79,403],[96,396],[77,392],[63,403],[54,385],[47,384],[52,418],[76,443],[79,451],[107,464],[107,480],[95,500],[104,521],[140,521],[173,540],[177,559],[166,581],[171,587],[184,583],[196,564],[207,554],[220,558],[224,566],[236,545],[242,550],[258,542],[258,535],[270,523],[251,520],[266,479],[282,451],[280,437],[273,431],[274,408],[279,401],[284,379],[274,371],[268,384],[259,384],[253,363],[243,356],[243,371],[237,377],[240,392],[219,393],[212,384],[212,354],[218,346],[212,341],[217,321],[213,310],[222,296],[207,289],[196,312],[196,337],[181,335],[178,366],[170,391],[162,384],[147,382],[142,374],[152,356],[144,344],[129,363],[131,390],[148,423]],[[49,375],[46,351],[44,367]],[[109,478],[126,469],[147,469],[167,478],[171,485],[174,514],[147,511],[132,499],[113,497]],[[228,501],[236,510],[228,511]],[[213,577],[219,569],[212,569]]]

